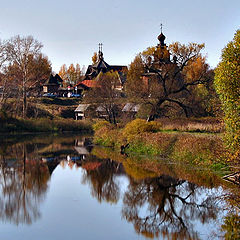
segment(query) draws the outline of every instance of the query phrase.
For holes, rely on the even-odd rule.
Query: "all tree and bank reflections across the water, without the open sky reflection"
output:
[[[164,161],[157,167],[145,164],[144,170],[141,163],[109,149],[93,149],[84,136],[2,140],[0,218],[13,224],[36,222],[51,175],[60,164],[62,169],[82,169],[81,184],[90,187],[92,197],[99,203],[121,204],[120,217],[144,237],[204,239],[204,228],[216,230],[212,226],[217,224],[231,231],[238,215],[229,213],[224,223],[222,210],[239,205],[238,189],[230,195],[220,178],[202,169],[188,170]],[[120,177],[126,179],[126,188]]]

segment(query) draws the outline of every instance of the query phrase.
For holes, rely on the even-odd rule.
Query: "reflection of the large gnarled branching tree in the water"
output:
[[[161,233],[172,237],[177,234],[179,239],[198,239],[194,220],[204,224],[217,214],[213,199],[199,198],[199,191],[195,184],[166,175],[140,182],[131,179],[122,215],[133,222],[138,233],[148,237]]]

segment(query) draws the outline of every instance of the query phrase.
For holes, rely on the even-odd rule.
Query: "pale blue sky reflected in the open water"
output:
[[[127,191],[129,180],[125,176],[117,176],[120,186],[121,199],[117,204],[109,204],[104,201],[100,204],[96,198],[92,198],[88,184],[82,184],[81,179],[85,170],[70,169],[58,165],[54,170],[49,183],[46,201],[40,206],[41,219],[36,223],[26,226],[14,226],[2,224],[0,227],[1,238],[12,239],[144,239],[137,235],[131,223],[127,223],[121,217],[122,197]],[[206,196],[219,194],[221,189],[202,189],[198,201]],[[144,216],[148,210],[147,204],[140,210]],[[223,212],[220,216],[223,215]],[[214,221],[202,225],[199,221],[193,222],[194,230],[200,232],[200,236],[206,239],[206,235],[216,229]]]

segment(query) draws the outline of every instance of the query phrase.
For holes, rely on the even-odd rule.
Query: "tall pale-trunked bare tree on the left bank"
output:
[[[21,37],[15,36],[6,44],[6,51],[10,68],[16,71],[16,80],[21,91],[22,97],[22,115],[26,116],[27,95],[30,89],[37,81],[33,63],[41,58],[41,49],[43,45],[35,40],[32,36]]]

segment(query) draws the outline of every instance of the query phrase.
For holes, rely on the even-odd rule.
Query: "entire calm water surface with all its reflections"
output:
[[[158,173],[138,162],[85,136],[1,138],[0,239],[220,239],[231,231],[237,188],[166,159]]]

